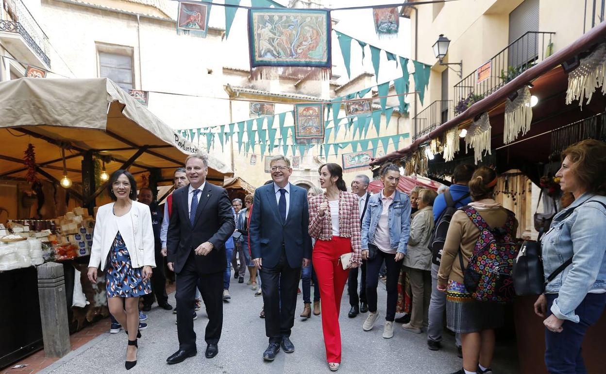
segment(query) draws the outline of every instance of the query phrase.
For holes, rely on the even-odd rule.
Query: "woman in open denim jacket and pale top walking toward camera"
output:
[[[396,316],[398,278],[410,236],[410,198],[396,190],[400,181],[400,170],[396,165],[387,164],[383,167],[381,181],[384,188],[380,193],[370,196],[362,221],[362,258],[368,258],[368,247],[376,253],[373,258],[368,258],[366,265],[366,298],[370,313],[362,329],[371,330],[379,318],[377,286],[379,270],[385,260],[387,311],[383,338],[389,339],[393,336],[393,320]]]

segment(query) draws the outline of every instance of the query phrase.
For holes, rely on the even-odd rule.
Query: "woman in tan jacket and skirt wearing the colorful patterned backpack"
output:
[[[493,169],[479,167],[469,181],[472,199],[469,205],[488,226],[511,235],[518,229],[518,221],[513,218],[513,224],[507,225],[513,213],[494,201],[496,182]],[[438,290],[447,292],[448,329],[461,334],[463,347],[463,368],[453,374],[492,373],[494,329],[501,327],[504,320],[503,304],[476,300],[463,283],[465,269],[480,235],[478,226],[467,213],[457,210],[448,227],[438,272]]]

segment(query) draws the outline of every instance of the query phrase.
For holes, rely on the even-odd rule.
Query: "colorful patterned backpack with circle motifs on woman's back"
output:
[[[518,256],[519,244],[514,242],[515,215],[507,210],[507,221],[503,227],[491,228],[478,211],[470,205],[462,207],[471,222],[480,230],[469,265],[465,269],[462,252],[459,261],[464,270],[467,292],[478,301],[510,302],[515,295],[511,270]]]

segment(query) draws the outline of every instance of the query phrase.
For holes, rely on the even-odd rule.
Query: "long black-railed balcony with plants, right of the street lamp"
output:
[[[552,32],[527,32],[454,85],[458,115],[553,53]]]

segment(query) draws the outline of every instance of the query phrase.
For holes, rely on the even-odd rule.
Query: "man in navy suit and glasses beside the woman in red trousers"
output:
[[[270,168],[273,183],[256,189],[248,227],[253,262],[261,272],[265,335],[269,338],[263,353],[266,361],[273,361],[280,347],[295,352],[290,332],[295,323],[297,286],[301,265],[308,265],[311,258],[307,191],[288,182],[293,169],[284,156],[271,158]]]

